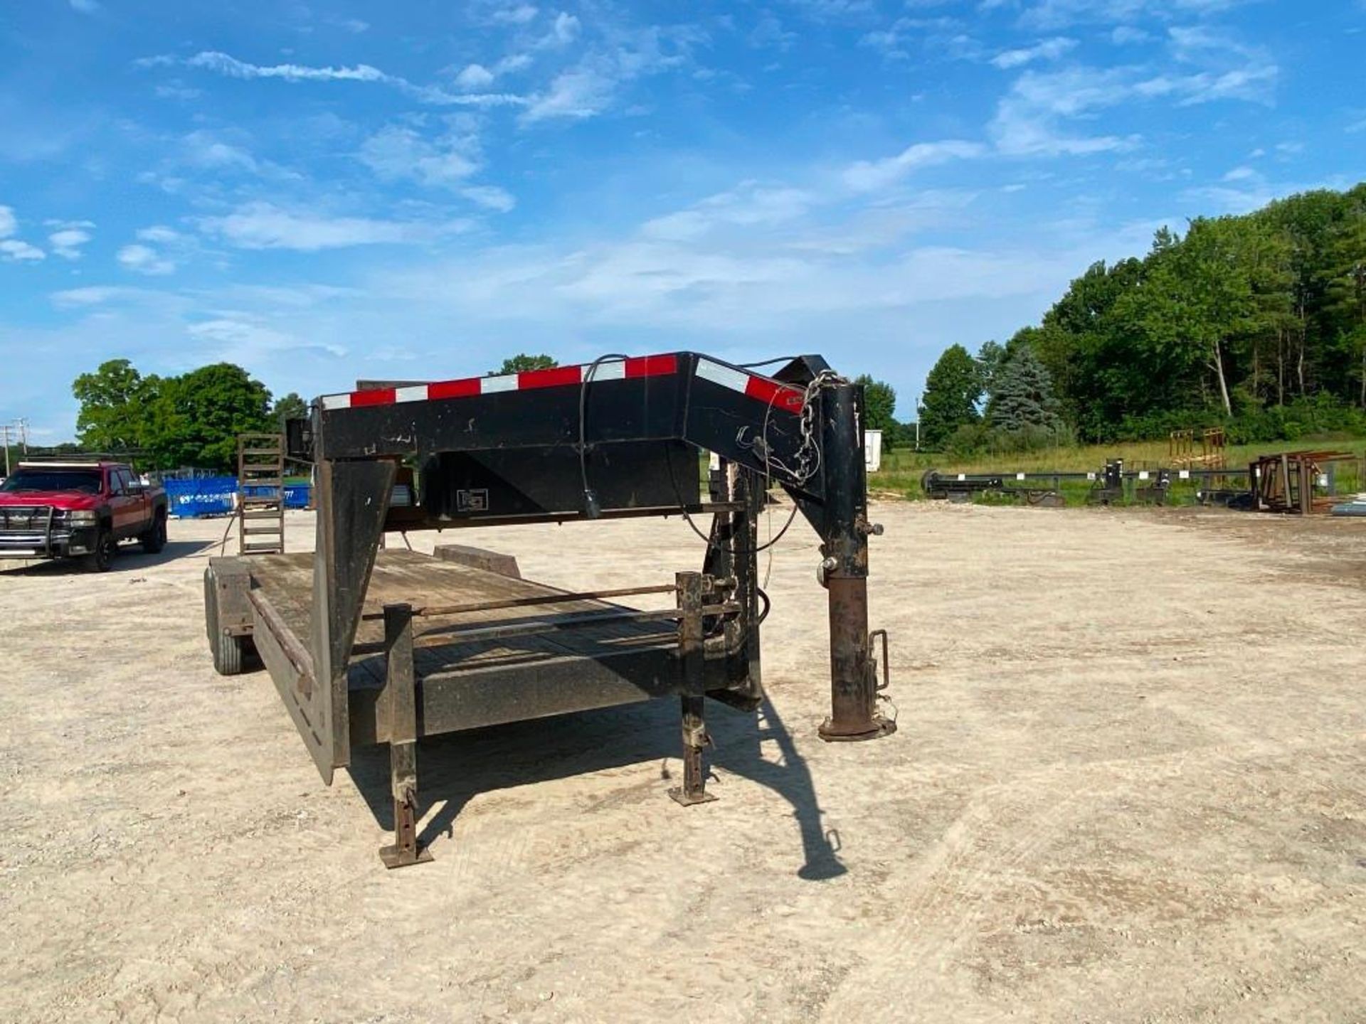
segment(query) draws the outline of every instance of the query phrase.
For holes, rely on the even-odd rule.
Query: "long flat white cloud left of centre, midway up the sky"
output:
[[[329,217],[290,212],[268,202],[250,202],[223,217],[205,217],[205,231],[238,248],[288,248],[317,253],[325,248],[434,242],[464,231],[466,221],[393,221],[370,217]]]

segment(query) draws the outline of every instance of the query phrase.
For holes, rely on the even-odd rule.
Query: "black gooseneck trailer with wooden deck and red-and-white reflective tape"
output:
[[[683,784],[671,796],[712,799],[703,700],[754,710],[764,695],[758,520],[773,486],[821,537],[831,715],[820,735],[895,729],[878,714],[887,638],[867,623],[880,527],[867,520],[863,390],[824,359],[769,377],[675,352],[376,384],[322,396],[288,426],[290,456],[313,466],[316,550],[210,560],[209,646],[221,673],[265,666],[324,782],[352,750],[389,745],[389,867],[429,856],[417,841],[425,736],[678,696]],[[701,453],[714,456],[705,498]],[[387,531],[673,515],[705,554],[664,586],[571,593],[471,549],[382,546]],[[622,603],[645,595],[665,606]]]

